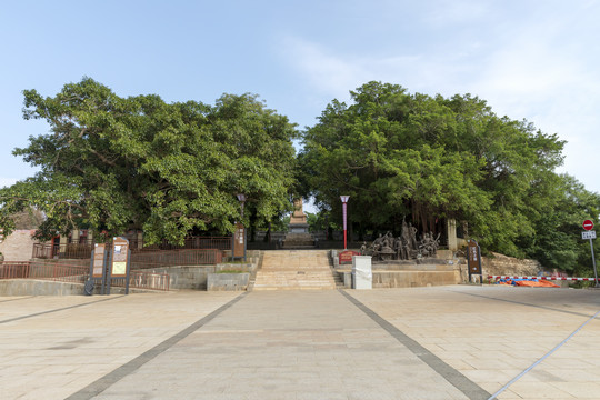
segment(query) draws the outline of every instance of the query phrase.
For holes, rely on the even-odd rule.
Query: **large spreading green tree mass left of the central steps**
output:
[[[11,213],[34,207],[47,217],[39,238],[88,227],[181,243],[193,230],[231,231],[237,193],[259,221],[290,209],[297,131],[256,96],[166,103],[121,98],[84,78],[54,97],[24,91],[23,113],[46,120],[50,133],[14,150],[39,172],[0,190],[6,230]]]

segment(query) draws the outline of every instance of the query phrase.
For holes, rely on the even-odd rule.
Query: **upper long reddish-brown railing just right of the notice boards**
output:
[[[214,266],[222,262],[219,249],[187,250],[134,250],[131,252],[131,269],[149,269],[172,266]]]

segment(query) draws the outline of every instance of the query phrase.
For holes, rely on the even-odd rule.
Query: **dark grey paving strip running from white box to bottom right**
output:
[[[427,350],[424,347],[419,344],[414,339],[410,338],[408,334],[402,332],[400,329],[396,328],[393,324],[388,322],[386,319],[380,317],[377,312],[364,306],[362,302],[357,300],[354,297],[349,294],[344,290],[339,290],[350,302],[358,307],[362,312],[364,312],[369,318],[377,322],[381,328],[383,328],[388,333],[390,333],[396,340],[402,343],[407,349],[409,349],[414,356],[417,356],[421,361],[428,364],[433,371],[440,374],[443,379],[450,382],[454,388],[460,390],[464,396],[471,400],[481,400],[488,399],[490,393],[483,388],[478,386],[476,382],[463,376],[460,371],[452,368],[446,363],[438,356],[433,354],[431,351]]]

